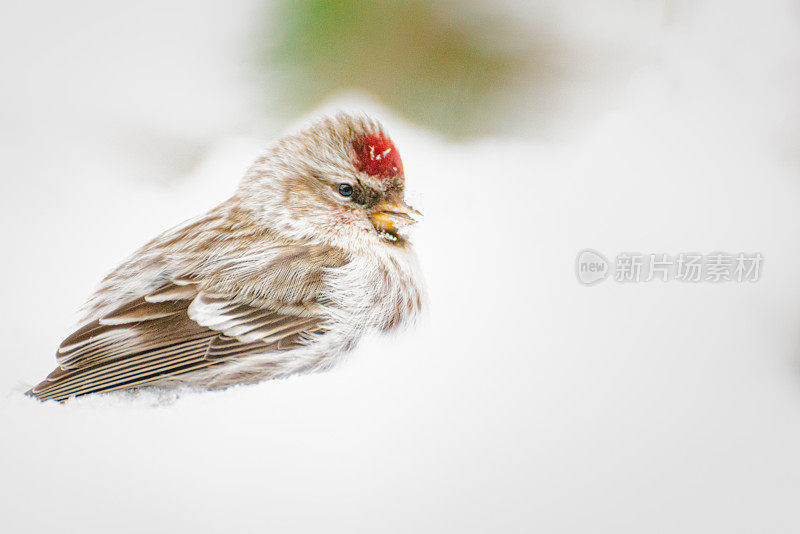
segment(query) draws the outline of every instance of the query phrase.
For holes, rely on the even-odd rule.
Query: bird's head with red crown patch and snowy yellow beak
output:
[[[276,141],[250,169],[240,202],[291,237],[403,247],[420,214],[404,200],[403,163],[375,120],[340,113]]]

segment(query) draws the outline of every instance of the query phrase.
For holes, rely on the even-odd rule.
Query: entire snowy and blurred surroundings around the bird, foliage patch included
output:
[[[0,530],[800,529],[796,0],[3,8]],[[340,107],[426,215],[418,328],[177,401],[22,396],[110,269]],[[585,248],[764,268],[584,287]]]

